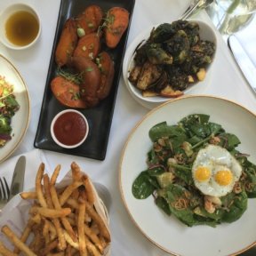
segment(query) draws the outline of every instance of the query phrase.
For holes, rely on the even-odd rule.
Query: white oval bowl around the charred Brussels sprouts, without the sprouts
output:
[[[205,23],[202,20],[195,20],[191,19],[188,21],[195,21],[199,25],[199,35],[200,39],[202,40],[208,40],[211,41],[216,45],[216,51],[217,51],[217,36],[215,34],[215,31],[213,28],[211,28],[207,23]],[[156,24],[156,26],[153,26],[156,28],[160,24]],[[123,76],[124,76],[124,83],[128,89],[128,91],[131,93],[132,98],[136,101],[138,101],[142,106],[146,108],[155,108],[156,106],[164,103],[168,100],[173,100],[175,98],[169,98],[169,97],[161,97],[161,96],[153,96],[153,97],[143,97],[141,91],[136,88],[129,80],[128,76],[130,71],[132,70],[132,67],[134,65],[134,53],[136,51],[136,48],[138,45],[143,41],[147,40],[150,36],[150,32],[153,27],[150,27],[146,30],[144,30],[139,36],[135,37],[135,39],[132,41],[132,44],[128,47],[127,51],[124,55],[124,62],[123,62]],[[212,56],[212,62],[214,62],[214,58],[216,55],[216,51],[214,52],[214,55]],[[206,68],[206,76],[204,78],[204,81],[197,82],[196,84],[191,84],[188,86],[186,90],[184,90],[184,95],[190,94],[200,94],[200,92],[204,92],[205,84],[209,83],[209,71],[212,67],[212,63]]]

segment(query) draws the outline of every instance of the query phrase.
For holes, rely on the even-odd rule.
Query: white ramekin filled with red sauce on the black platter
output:
[[[84,143],[89,132],[86,117],[75,109],[66,109],[52,119],[52,139],[61,148],[76,148]]]

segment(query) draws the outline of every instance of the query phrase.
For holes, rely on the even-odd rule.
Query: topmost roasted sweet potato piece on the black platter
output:
[[[85,35],[97,31],[103,19],[104,12],[100,6],[92,4],[76,18],[77,28],[83,28]]]

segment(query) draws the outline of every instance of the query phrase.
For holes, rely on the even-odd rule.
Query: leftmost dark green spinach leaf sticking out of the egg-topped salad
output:
[[[132,195],[137,199],[145,199],[158,187],[156,178],[151,177],[148,171],[140,172],[132,183]]]

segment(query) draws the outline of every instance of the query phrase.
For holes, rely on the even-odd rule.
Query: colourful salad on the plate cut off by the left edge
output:
[[[0,76],[0,148],[12,140],[12,116],[19,110],[20,105],[13,95],[13,85]]]

